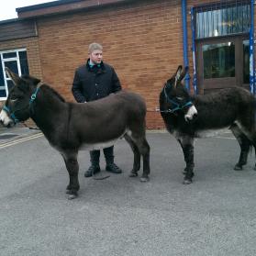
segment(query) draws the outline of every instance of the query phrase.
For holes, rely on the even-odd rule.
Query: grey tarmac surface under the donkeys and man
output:
[[[0,255],[256,255],[254,152],[235,172],[239,145],[230,132],[197,139],[194,183],[184,185],[176,140],[165,131],[147,138],[150,182],[128,177],[132,152],[120,139],[123,173],[84,178],[89,153],[81,151],[81,190],[67,200],[64,162],[39,130],[0,128]]]

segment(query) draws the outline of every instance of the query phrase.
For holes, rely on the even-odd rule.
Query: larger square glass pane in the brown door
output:
[[[235,77],[235,44],[209,44],[202,47],[204,79]]]

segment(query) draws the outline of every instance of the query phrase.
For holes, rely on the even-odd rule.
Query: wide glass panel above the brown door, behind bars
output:
[[[221,3],[196,10],[196,39],[249,33],[250,6],[237,3],[227,6]]]

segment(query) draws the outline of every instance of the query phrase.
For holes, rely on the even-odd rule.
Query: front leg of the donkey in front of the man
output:
[[[66,194],[69,194],[69,199],[77,197],[80,185],[78,181],[79,164],[77,161],[77,152],[62,154],[65,161],[67,171],[70,176],[70,183],[67,186]]]

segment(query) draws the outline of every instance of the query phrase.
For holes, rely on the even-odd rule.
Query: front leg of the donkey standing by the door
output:
[[[191,184],[192,178],[194,177],[194,139],[185,136],[178,139],[180,142],[183,152],[184,152],[184,161],[186,166],[184,168],[184,184]]]

